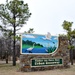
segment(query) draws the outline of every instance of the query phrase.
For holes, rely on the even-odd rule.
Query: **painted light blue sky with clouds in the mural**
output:
[[[36,34],[24,34],[22,35],[23,40],[30,40],[32,42],[39,43],[43,46],[58,46],[58,38],[57,36],[52,36],[49,40],[43,39],[46,38],[44,35],[36,35]],[[53,43],[54,42],[54,43]]]

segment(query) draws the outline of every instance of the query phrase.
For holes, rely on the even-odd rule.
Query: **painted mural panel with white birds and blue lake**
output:
[[[39,34],[22,34],[21,54],[49,54],[58,48],[58,37]]]

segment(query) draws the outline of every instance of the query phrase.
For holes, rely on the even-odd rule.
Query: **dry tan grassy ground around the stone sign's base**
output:
[[[36,72],[20,72],[19,64],[12,66],[11,63],[0,63],[0,75],[75,75],[75,64],[67,69],[55,69]]]

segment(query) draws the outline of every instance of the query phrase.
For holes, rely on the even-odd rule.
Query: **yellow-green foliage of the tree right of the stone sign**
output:
[[[73,22],[68,22],[68,21],[64,21],[63,24],[62,24],[63,29],[67,31],[67,37],[68,37],[69,44],[70,44],[68,46],[69,49],[74,48],[71,44],[72,39],[75,38],[75,29],[72,30],[72,24],[73,24]]]

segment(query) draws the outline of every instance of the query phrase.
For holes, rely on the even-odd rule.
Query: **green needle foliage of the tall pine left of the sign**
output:
[[[3,23],[0,25],[0,29],[11,30],[9,27],[13,28],[14,24],[15,27],[22,27],[30,15],[28,4],[24,4],[22,0],[12,0],[7,1],[6,4],[0,4],[0,20]],[[18,29],[16,28],[16,30]]]

